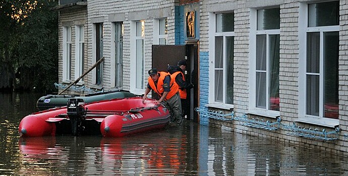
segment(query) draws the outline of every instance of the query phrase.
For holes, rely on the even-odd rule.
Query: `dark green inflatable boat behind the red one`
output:
[[[122,98],[131,98],[136,97],[136,95],[128,91],[110,91],[96,94],[88,94],[85,96],[78,95],[46,95],[40,97],[37,100],[36,106],[40,111],[67,106],[69,99],[82,99],[85,103],[98,102],[102,100],[112,100],[112,99],[122,99]]]

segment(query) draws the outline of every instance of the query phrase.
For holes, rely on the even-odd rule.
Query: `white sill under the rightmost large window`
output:
[[[296,119],[295,122],[319,125],[319,126],[330,127],[330,128],[335,128],[339,126],[338,119],[328,119],[328,118],[302,117],[302,118]]]

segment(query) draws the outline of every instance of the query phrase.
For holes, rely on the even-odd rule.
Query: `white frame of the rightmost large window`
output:
[[[308,27],[308,4],[300,3],[299,12],[299,119],[296,121],[335,127],[339,125],[338,119],[323,117],[323,32],[338,32],[337,26]],[[320,32],[320,71],[319,71],[319,116],[306,115],[306,63],[307,63],[307,33]]]

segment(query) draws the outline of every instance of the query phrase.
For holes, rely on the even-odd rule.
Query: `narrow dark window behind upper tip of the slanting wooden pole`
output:
[[[103,42],[104,42],[104,34],[103,34],[103,24],[97,23],[95,25],[96,29],[96,59],[97,62],[101,58],[103,58]],[[101,62],[98,66],[96,66],[96,84],[102,83],[102,73],[103,73],[103,62]]]

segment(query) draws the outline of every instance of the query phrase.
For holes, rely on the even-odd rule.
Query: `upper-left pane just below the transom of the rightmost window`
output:
[[[307,33],[307,72],[319,73],[320,66],[320,34]]]

